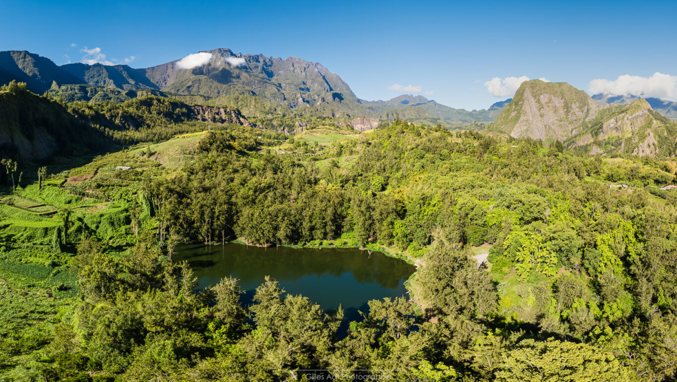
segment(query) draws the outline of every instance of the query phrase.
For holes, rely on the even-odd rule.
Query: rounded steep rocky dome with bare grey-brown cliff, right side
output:
[[[494,122],[512,137],[565,140],[603,108],[568,83],[525,81]]]

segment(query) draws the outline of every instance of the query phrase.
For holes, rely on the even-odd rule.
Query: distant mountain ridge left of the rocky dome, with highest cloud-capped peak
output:
[[[319,63],[300,58],[273,58],[261,54],[234,54],[230,49],[202,51],[209,60],[192,68],[183,68],[174,60],[150,68],[127,65],[65,64],[28,51],[0,52],[0,83],[13,79],[26,82],[28,89],[82,100],[128,100],[138,94],[126,91],[162,91],[181,96],[201,97],[207,102],[234,102],[233,106],[253,113],[292,112],[323,116],[372,116],[401,119],[414,123],[452,125],[467,122],[492,122],[504,103],[489,110],[451,108],[423,96],[402,95],[387,101],[360,100],[339,75]],[[55,86],[56,84],[56,86]],[[66,87],[64,88],[64,85]],[[87,85],[94,89],[73,87]],[[118,89],[112,91],[110,89]],[[103,94],[99,94],[103,93]],[[154,93],[158,95],[159,93]],[[265,111],[246,108],[265,100]]]

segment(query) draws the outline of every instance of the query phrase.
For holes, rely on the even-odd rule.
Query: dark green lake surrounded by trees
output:
[[[367,312],[369,300],[407,295],[403,283],[416,270],[401,259],[349,248],[184,245],[177,247],[173,260],[188,261],[200,289],[225,276],[238,278],[246,291],[243,303],[250,303],[265,276],[271,276],[286,293],[304,295],[324,310],[341,304],[344,322],[359,320],[357,310]]]

